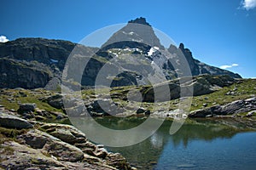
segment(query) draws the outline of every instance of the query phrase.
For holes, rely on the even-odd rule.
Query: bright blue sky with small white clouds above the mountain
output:
[[[1,0],[0,6],[0,42],[79,42],[97,29],[143,16],[183,42],[195,59],[256,77],[256,0]]]

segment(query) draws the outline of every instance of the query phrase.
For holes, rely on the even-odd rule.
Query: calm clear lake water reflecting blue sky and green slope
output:
[[[143,122],[142,119],[130,121],[113,117],[98,120],[115,129]],[[256,133],[246,132],[242,125],[232,120],[198,120],[184,124],[177,133],[170,135],[171,124],[171,121],[164,122],[142,143],[108,150],[120,152],[138,169],[255,169]]]

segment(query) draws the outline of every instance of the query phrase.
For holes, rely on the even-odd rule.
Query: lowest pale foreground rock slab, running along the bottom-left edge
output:
[[[5,151],[9,150],[9,151]],[[1,144],[1,167],[4,169],[98,169],[113,170],[101,159],[84,154],[83,161],[61,161],[58,157],[45,153],[45,150],[34,149],[26,144],[7,141]]]

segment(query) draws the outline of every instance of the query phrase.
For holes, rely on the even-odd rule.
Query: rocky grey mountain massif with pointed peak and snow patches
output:
[[[148,75],[162,79],[159,72],[166,80],[187,76],[183,74],[183,58],[192,76],[209,74],[241,78],[231,71],[194,59],[183,43],[179,47],[164,48],[152,26],[141,17],[130,20],[102,48],[44,38],[18,38],[0,43],[0,88],[57,88],[70,54],[76,65],[69,70],[67,81],[80,82],[76,73],[82,71],[83,86],[94,86],[96,80],[100,80],[99,85],[112,87],[148,84]],[[81,70],[86,60],[88,64]]]

